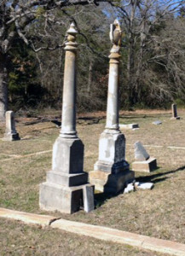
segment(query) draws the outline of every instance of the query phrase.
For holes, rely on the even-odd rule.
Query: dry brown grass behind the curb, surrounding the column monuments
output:
[[[170,113],[129,113],[129,116],[120,118],[121,123],[139,123],[141,127],[137,131],[124,131],[126,159],[129,162],[134,159],[133,143],[141,141],[151,146],[147,151],[158,160],[157,171],[149,174],[136,173],[137,179],[155,183],[153,190],[137,190],[135,193],[121,194],[110,199],[95,195],[98,206],[95,211],[89,214],[80,211],[72,215],[55,212],[55,215],[185,243],[185,149],[166,148],[185,147],[185,113],[179,112],[179,115],[182,119],[173,121],[170,120]],[[156,119],[163,124],[153,125],[152,122]],[[84,170],[87,172],[93,170],[97,160],[98,139],[104,125],[105,120],[96,125],[78,125],[78,135],[85,146]],[[45,181],[45,173],[51,168],[51,153],[21,159],[12,159],[11,155],[52,149],[59,129],[51,123],[25,126],[20,122],[17,130],[20,137],[29,139],[13,143],[0,142],[0,207],[42,213],[38,207],[38,184]],[[3,137],[3,128],[0,132]],[[153,148],[153,145],[162,147]],[[19,226],[17,229],[19,230]],[[31,230],[30,234],[35,232],[32,228]],[[90,239],[87,243],[89,241]],[[104,249],[108,255],[108,250]]]

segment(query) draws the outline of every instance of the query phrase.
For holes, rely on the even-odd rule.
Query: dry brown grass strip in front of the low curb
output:
[[[77,236],[61,230],[27,226],[18,221],[0,219],[1,256],[162,256],[130,246]],[[8,235],[9,234],[9,235]]]

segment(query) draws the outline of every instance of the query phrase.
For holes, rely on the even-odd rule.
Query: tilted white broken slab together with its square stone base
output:
[[[132,163],[132,170],[135,172],[152,172],[157,169],[157,160],[147,154],[142,143],[135,143],[135,161]]]

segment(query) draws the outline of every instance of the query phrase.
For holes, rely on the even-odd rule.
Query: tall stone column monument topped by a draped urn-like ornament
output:
[[[111,25],[110,39],[113,43],[109,55],[109,80],[107,96],[107,121],[99,141],[99,159],[95,171],[90,172],[90,183],[95,189],[117,194],[126,183],[134,180],[129,164],[125,161],[125,138],[119,130],[119,49],[121,29],[119,21]]]

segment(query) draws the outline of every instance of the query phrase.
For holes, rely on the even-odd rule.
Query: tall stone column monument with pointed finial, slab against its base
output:
[[[86,212],[94,209],[94,186],[88,183],[84,168],[84,144],[76,131],[76,27],[67,31],[64,71],[62,125],[53,147],[52,170],[45,183],[40,184],[39,205],[44,210]]]

